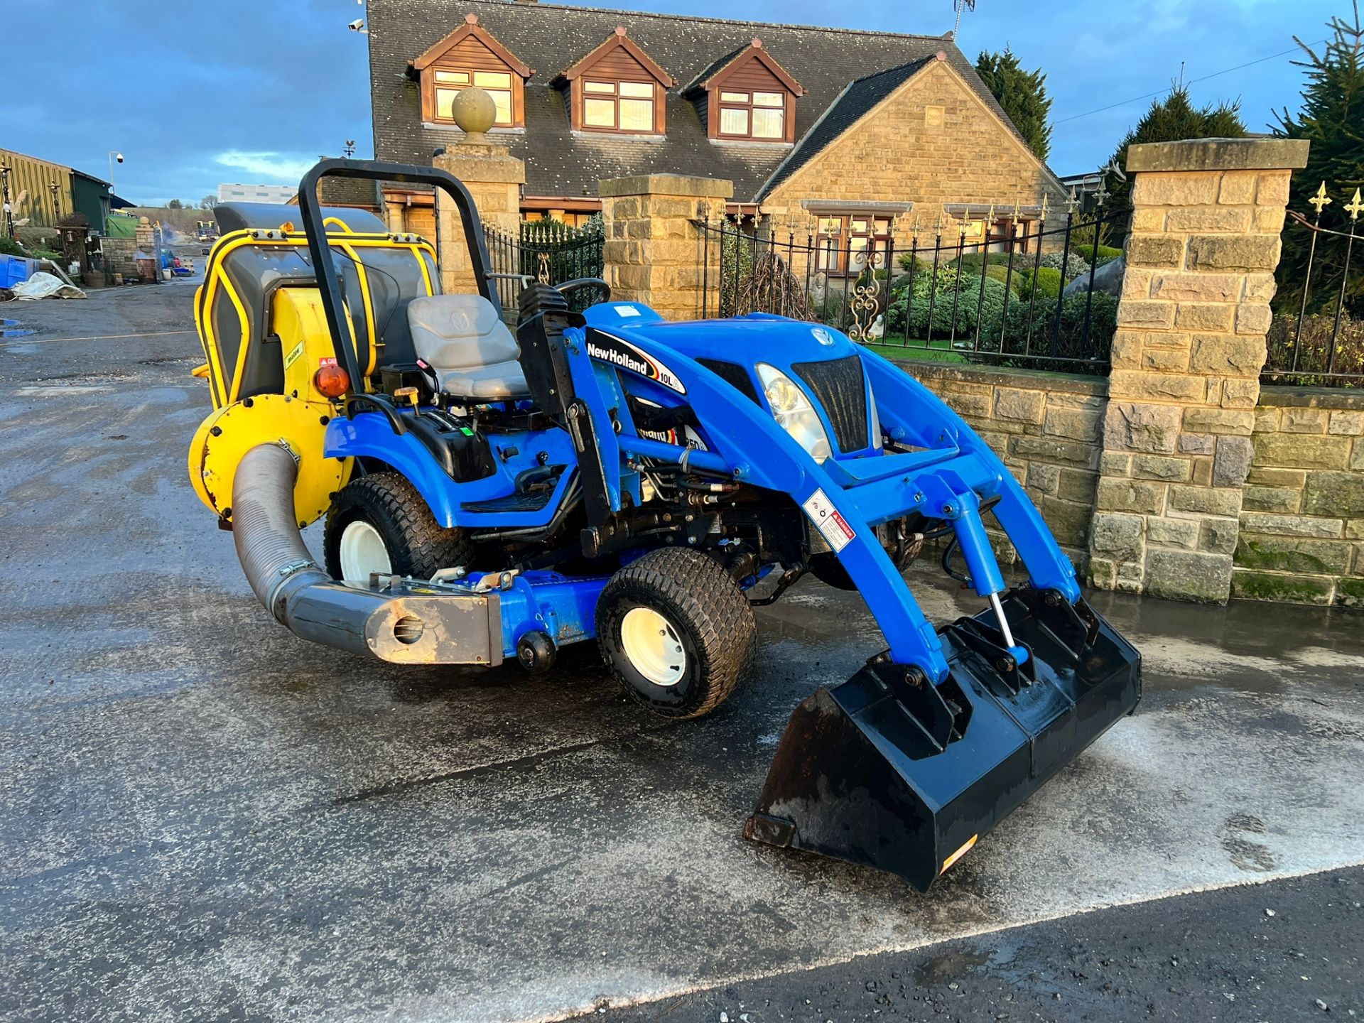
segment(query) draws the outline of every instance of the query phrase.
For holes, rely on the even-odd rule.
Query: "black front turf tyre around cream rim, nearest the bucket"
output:
[[[615,649],[625,612],[652,607],[689,637],[689,685],[674,705],[651,700],[623,671]],[[617,572],[597,599],[597,642],[622,689],[667,717],[701,717],[723,704],[747,675],[757,652],[757,622],[743,591],[716,559],[689,547],[660,547]]]

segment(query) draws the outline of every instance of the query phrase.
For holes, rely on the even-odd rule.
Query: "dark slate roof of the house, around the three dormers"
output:
[[[853,29],[722,20],[509,0],[370,0],[370,83],[375,155],[379,160],[427,164],[431,151],[458,142],[460,132],[421,124],[417,83],[408,64],[473,12],[479,25],[509,50],[539,68],[525,83],[525,130],[492,132],[527,164],[525,194],[591,198],[597,181],[641,173],[681,173],[730,179],[734,198],[752,202],[760,187],[790,155],[809,160],[817,147],[806,132],[824,117],[817,138],[827,145],[833,128],[847,125],[853,112],[876,95],[895,74],[906,72],[937,52],[981,95],[1005,124],[1008,116],[975,74],[966,56],[943,35],[902,35]],[[690,85],[716,64],[750,45],[753,37],[805,89],[795,104],[797,150],[752,142],[707,138],[686,86],[667,93],[667,136],[630,138],[569,128],[563,94],[550,87],[554,68],[576,64],[623,25],[678,83]],[[546,71],[550,68],[550,71]],[[880,80],[878,72],[891,78]],[[900,79],[903,80],[903,78]],[[850,85],[851,83],[851,85]],[[863,108],[865,109],[869,108]],[[791,168],[794,169],[794,166]]]

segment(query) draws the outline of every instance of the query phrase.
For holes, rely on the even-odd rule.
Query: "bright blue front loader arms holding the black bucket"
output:
[[[604,453],[606,464],[615,468],[621,456],[647,453],[640,439],[612,432],[608,398],[585,351],[585,330],[566,330],[565,342],[577,394],[592,411],[596,436],[608,445],[614,439],[619,447]],[[632,344],[685,382],[686,402],[713,443],[711,454],[719,456],[734,479],[790,495],[817,528],[835,516],[846,524],[850,536],[836,550],[837,558],[876,618],[895,663],[921,668],[934,683],[948,675],[936,627],[876,536],[873,527],[881,522],[914,512],[951,521],[977,592],[989,596],[1005,587],[981,522],[979,502],[997,498],[994,513],[1018,546],[1031,585],[1057,591],[1067,602],[1079,597],[1069,559],[1004,462],[941,400],[880,356],[868,352],[862,359],[883,427],[892,438],[925,450],[820,464],[767,409],[701,363],[656,341],[632,338]],[[615,484],[618,475],[608,479]],[[618,488],[611,486],[610,494],[618,510]]]

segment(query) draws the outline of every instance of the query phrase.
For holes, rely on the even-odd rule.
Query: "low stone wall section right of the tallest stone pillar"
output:
[[[1264,387],[1232,596],[1364,607],[1364,393]]]

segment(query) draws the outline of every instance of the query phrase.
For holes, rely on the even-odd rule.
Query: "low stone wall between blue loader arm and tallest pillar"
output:
[[[994,449],[1083,573],[1108,381],[1031,370],[898,361]],[[1003,533],[996,550],[1013,561]]]

